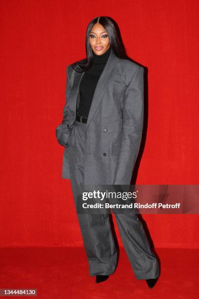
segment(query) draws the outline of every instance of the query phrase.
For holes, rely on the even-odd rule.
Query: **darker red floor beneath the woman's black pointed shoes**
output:
[[[199,298],[199,250],[156,253],[161,273],[149,289],[135,278],[123,248],[116,272],[100,284],[89,276],[83,248],[0,248],[0,289],[34,288],[41,299]]]

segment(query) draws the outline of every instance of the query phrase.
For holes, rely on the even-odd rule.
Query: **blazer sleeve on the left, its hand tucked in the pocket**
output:
[[[69,109],[69,95],[71,91],[71,81],[68,74],[69,65],[66,68],[66,91],[65,91],[65,105],[63,107],[63,119],[62,124],[56,128],[56,137],[61,146],[66,146],[66,142],[69,134],[69,119],[70,119],[70,109]]]

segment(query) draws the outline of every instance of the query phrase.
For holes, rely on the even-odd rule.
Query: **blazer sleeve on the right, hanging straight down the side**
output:
[[[129,185],[139,153],[143,129],[144,68],[139,66],[128,85],[122,108],[122,134],[114,185]]]

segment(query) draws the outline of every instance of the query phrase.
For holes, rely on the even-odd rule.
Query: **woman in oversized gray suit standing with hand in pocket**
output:
[[[87,58],[67,67],[66,104],[56,136],[65,148],[62,178],[71,180],[76,208],[84,185],[129,185],[139,152],[144,68],[127,59],[116,28],[108,17],[92,20]],[[152,288],[159,264],[137,214],[115,216],[136,278]],[[90,275],[104,281],[117,264],[109,215],[78,218]]]

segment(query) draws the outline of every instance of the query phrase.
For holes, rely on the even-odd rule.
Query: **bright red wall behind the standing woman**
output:
[[[55,128],[66,66],[85,57],[88,22],[101,15],[117,21],[127,54],[148,68],[137,184],[198,184],[197,0],[1,0],[0,12],[0,246],[82,245]],[[198,215],[143,218],[155,247],[199,247]]]

